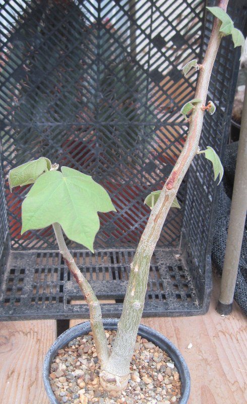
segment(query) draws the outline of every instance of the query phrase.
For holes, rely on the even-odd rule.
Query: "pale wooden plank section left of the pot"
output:
[[[49,404],[42,365],[55,338],[54,320],[0,323],[1,404]]]

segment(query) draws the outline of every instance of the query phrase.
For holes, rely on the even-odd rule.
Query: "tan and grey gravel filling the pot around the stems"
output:
[[[116,331],[105,331],[109,348]],[[63,404],[172,404],[178,403],[181,382],[166,352],[137,336],[125,391],[104,391],[99,382],[100,365],[92,333],[73,339],[59,349],[50,369],[51,388]]]

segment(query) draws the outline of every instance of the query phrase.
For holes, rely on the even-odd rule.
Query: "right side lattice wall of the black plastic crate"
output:
[[[214,5],[214,2],[210,3]],[[230,1],[227,10],[234,21],[234,26],[242,31],[245,26],[246,31],[246,2]],[[212,21],[212,14],[208,13],[204,29],[203,55],[210,38]],[[213,67],[207,98],[214,100],[216,112],[212,116],[205,115],[200,139],[202,150],[210,145],[219,156],[222,156],[228,139],[239,57],[240,49],[235,52],[231,37],[224,37]],[[233,68],[233,66],[237,67]],[[218,190],[213,181],[211,164],[208,164],[206,159],[196,157],[190,167],[187,181],[186,207],[184,207],[182,226],[184,241],[182,244],[190,252],[188,264],[194,272],[196,284],[207,283],[205,274],[207,263],[211,267],[214,209],[217,206]],[[193,220],[195,216],[197,220]]]

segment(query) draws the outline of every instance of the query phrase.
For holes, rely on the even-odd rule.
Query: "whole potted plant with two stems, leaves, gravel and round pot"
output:
[[[200,150],[199,140],[204,114],[213,114],[215,111],[214,103],[206,103],[206,98],[221,38],[231,34],[235,46],[242,46],[242,49],[244,46],[241,32],[234,28],[232,20],[224,11],[227,3],[227,0],[220,1],[220,7],[208,8],[216,19],[203,63],[199,65],[194,60],[183,67],[184,75],[192,68],[200,70],[195,98],[181,109],[189,122],[187,139],[162,190],[152,192],[145,199],[145,203],[151,208],[151,214],[131,264],[119,321],[102,320],[99,301],[77,267],[63,235],[64,231],[68,238],[93,251],[94,237],[99,229],[98,212],[115,210],[108,193],[90,176],[68,167],[61,167],[61,171],[58,171],[58,165],[51,164],[44,157],[10,171],[11,189],[14,186],[33,184],[22,204],[22,233],[53,225],[60,254],[89,306],[90,322],[61,334],[46,356],[43,375],[52,403],[104,402],[108,392],[113,397],[110,402],[114,402],[114,397],[115,402],[123,403],[156,402],[158,396],[159,401],[164,404],[188,402],[190,376],[181,355],[163,335],[140,326],[140,321],[151,257],[170,207],[178,207],[176,194],[192,160],[197,154],[205,154],[212,162],[215,179],[219,176],[220,181],[223,176],[223,167],[217,154],[210,146],[206,150]],[[187,115],[190,117],[187,118]],[[111,344],[112,348],[109,349]],[[135,353],[133,356],[134,350],[140,350],[140,354]],[[67,362],[63,363],[61,358]],[[144,362],[140,364],[140,361]],[[162,361],[165,362],[163,370]],[[169,373],[168,376],[167,368],[175,367],[178,373]],[[97,375],[95,379],[93,370]],[[176,384],[173,385],[172,380]],[[87,385],[91,390],[86,390]],[[163,386],[165,387],[162,389]],[[125,389],[132,389],[133,399],[127,397]],[[163,394],[163,390],[168,394]]]

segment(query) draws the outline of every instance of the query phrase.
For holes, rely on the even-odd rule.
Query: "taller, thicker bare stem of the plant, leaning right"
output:
[[[228,0],[219,2],[224,9],[226,9],[227,3]],[[202,102],[193,109],[186,143],[150,214],[131,265],[129,285],[123,302],[116,339],[101,376],[101,384],[104,386],[107,386],[110,375],[114,374],[125,380],[130,371],[130,361],[144,307],[151,257],[172,201],[198,151],[204,118],[204,111],[201,107],[206,103],[209,80],[222,38],[222,34],[219,32],[220,24],[221,22],[216,18],[202,63],[203,68],[199,73],[195,98],[200,98]],[[108,389],[110,389],[111,383],[108,384]]]

